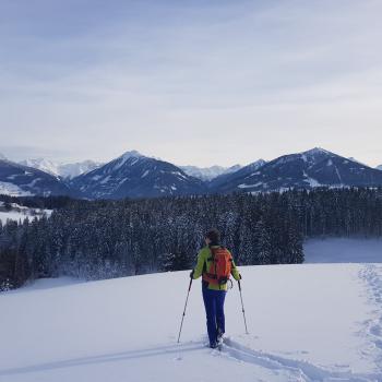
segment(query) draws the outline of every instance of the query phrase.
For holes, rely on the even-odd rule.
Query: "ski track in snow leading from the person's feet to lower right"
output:
[[[215,350],[217,351],[217,350]],[[299,382],[379,382],[380,374],[359,374],[350,371],[331,371],[306,360],[289,359],[240,345],[231,338],[225,338],[222,356],[240,362],[256,365],[271,370],[287,372],[289,381]]]

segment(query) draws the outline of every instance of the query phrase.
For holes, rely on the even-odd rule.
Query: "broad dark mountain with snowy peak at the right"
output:
[[[314,187],[378,187],[382,174],[323,148],[280,156],[250,175],[235,177],[215,191],[272,191]]]

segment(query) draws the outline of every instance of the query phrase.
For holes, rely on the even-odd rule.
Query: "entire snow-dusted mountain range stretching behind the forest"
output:
[[[259,159],[244,167],[176,166],[136,151],[99,164],[64,165],[0,154],[0,193],[85,199],[157,198],[187,194],[268,192],[317,187],[382,187],[382,166],[371,168],[323,148]]]

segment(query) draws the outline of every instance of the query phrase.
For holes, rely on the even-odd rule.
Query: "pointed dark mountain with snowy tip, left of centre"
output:
[[[79,196],[89,199],[155,198],[203,193],[200,179],[175,165],[128,152],[110,163],[74,178]]]

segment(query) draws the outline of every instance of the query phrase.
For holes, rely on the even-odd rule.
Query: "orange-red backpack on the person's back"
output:
[[[207,259],[206,272],[203,273],[203,280],[214,285],[224,285],[230,277],[232,270],[232,256],[224,247],[211,248],[211,258]]]

